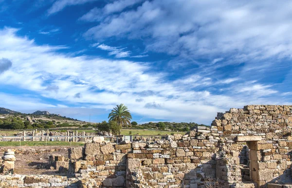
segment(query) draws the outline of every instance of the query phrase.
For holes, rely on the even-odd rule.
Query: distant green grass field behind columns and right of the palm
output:
[[[78,130],[78,132],[96,132],[95,130]],[[8,136],[13,136],[14,134],[17,134],[19,131],[0,131],[0,133],[7,133]],[[57,131],[58,132],[58,131]],[[62,130],[60,132],[67,132],[66,130]],[[174,133],[174,134],[185,134],[185,132],[170,132],[170,131],[160,131],[160,130],[157,130],[157,131],[149,131],[149,130],[137,130],[137,129],[123,129],[121,134],[122,135],[130,135],[129,133],[132,132],[132,135],[136,135],[136,134],[139,134],[139,135],[166,135],[166,134],[171,134],[171,133]]]

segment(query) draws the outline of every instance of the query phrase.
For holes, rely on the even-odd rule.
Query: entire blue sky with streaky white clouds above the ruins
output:
[[[292,1],[0,0],[0,107],[210,125],[292,104]]]

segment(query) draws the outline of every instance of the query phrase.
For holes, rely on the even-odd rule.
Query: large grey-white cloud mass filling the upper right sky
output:
[[[291,1],[273,0],[152,0],[115,16],[103,14],[106,19],[85,36],[147,38],[146,50],[185,61],[203,57],[214,59],[214,64],[224,58],[256,67],[260,64],[255,60],[291,57],[291,7]]]

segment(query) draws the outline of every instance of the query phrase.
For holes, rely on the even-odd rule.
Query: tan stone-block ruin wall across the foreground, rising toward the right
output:
[[[0,175],[1,188],[292,188],[292,106],[249,105],[165,140],[103,137],[55,158],[67,176]]]

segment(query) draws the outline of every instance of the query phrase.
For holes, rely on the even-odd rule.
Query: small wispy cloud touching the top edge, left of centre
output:
[[[56,0],[52,7],[48,10],[48,15],[55,14],[63,10],[67,6],[85,4],[95,0]]]

